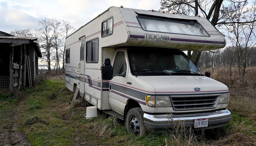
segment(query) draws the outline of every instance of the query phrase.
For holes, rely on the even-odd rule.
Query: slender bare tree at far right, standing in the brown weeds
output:
[[[223,7],[225,19],[230,23],[226,24],[227,37],[231,40],[237,56],[237,66],[242,78],[245,76],[246,68],[250,65],[254,47],[256,46],[256,2],[251,7],[246,7],[248,1],[233,3]],[[243,23],[246,22],[246,23]]]

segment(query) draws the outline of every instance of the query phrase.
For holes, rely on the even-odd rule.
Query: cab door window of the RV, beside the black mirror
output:
[[[121,74],[126,72],[127,66],[125,61],[124,52],[120,51],[116,53],[116,58],[113,65],[113,74]]]

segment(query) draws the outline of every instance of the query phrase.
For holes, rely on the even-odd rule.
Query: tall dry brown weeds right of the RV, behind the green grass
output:
[[[201,69],[210,70],[211,78],[226,84],[230,91],[229,109],[242,112],[246,116],[256,113],[256,67],[248,68],[244,78],[239,76],[238,68],[222,67]]]

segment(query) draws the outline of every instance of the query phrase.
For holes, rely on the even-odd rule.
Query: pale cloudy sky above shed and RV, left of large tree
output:
[[[0,0],[0,31],[38,29],[38,21],[56,18],[78,29],[111,6],[159,10],[161,0]]]

